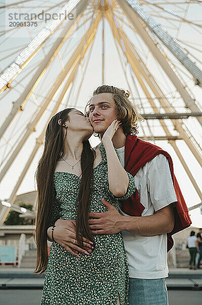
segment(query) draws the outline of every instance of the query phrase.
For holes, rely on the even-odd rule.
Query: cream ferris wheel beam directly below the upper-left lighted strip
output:
[[[84,0],[80,2],[76,9],[76,20],[77,23],[80,19],[80,14],[85,10],[87,6],[87,0]],[[0,128],[0,139],[11,124],[12,120],[15,118],[15,116],[18,114],[18,112],[24,110],[23,105],[26,103],[28,98],[33,92],[33,89],[37,85],[38,81],[43,77],[45,72],[47,71],[50,64],[53,62],[57,54],[59,53],[63,43],[66,39],[70,36],[72,30],[73,30],[74,24],[72,24],[70,21],[67,23],[64,31],[61,33],[61,37],[57,39],[57,41],[54,43],[53,47],[51,48],[49,54],[46,55],[45,60],[42,62],[42,64],[39,66],[38,70],[34,74],[33,78],[30,80],[30,82],[27,84],[24,92],[20,96],[20,98],[13,102],[13,107],[7,118],[5,119],[3,125]]]

